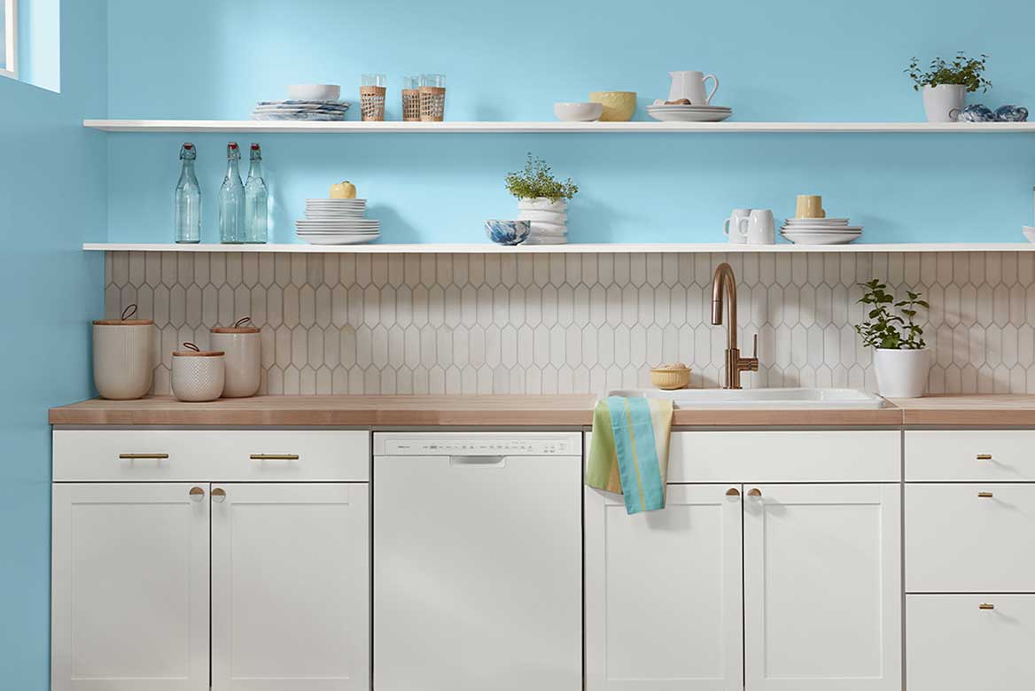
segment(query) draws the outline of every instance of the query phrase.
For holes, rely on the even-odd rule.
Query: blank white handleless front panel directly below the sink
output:
[[[669,451],[669,482],[900,479],[898,430],[677,431]]]

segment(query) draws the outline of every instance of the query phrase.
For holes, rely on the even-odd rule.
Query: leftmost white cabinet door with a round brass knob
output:
[[[208,689],[208,485],[54,485],[52,691]]]

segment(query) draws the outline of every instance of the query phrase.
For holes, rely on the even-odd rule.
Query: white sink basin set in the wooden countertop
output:
[[[676,408],[883,408],[884,399],[858,389],[619,389],[610,396],[671,398]]]

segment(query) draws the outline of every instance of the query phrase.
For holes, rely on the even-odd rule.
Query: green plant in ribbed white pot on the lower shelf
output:
[[[505,183],[507,191],[518,198],[518,219],[532,226],[525,244],[567,242],[568,201],[579,192],[571,178],[558,180],[544,160],[530,153],[525,168],[508,173]]]

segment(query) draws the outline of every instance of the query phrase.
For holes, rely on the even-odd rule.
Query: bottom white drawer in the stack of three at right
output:
[[[981,608],[992,605],[994,608]],[[906,598],[909,691],[1035,688],[1035,596],[911,595]]]

